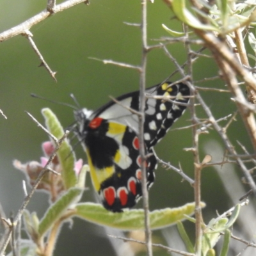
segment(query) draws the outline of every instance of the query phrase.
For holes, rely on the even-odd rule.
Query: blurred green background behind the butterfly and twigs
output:
[[[0,31],[12,28],[44,10],[46,1],[1,0]],[[157,44],[152,39],[168,36],[161,24],[181,31],[181,24],[172,18],[172,13],[163,3],[148,3],[148,44]],[[0,116],[0,202],[6,214],[17,212],[24,193],[22,179],[24,175],[12,166],[14,159],[22,162],[39,161],[42,156],[41,143],[47,140],[44,131],[24,111],[29,111],[37,120],[44,122],[40,110],[49,107],[60,118],[64,127],[74,122],[71,108],[33,99],[30,93],[36,93],[47,99],[74,104],[70,93],[74,93],[81,106],[97,109],[108,102],[108,96],[117,97],[123,93],[138,90],[139,74],[131,69],[104,65],[91,58],[111,59],[140,65],[141,32],[140,28],[127,26],[124,22],[139,23],[141,21],[140,1],[122,0],[92,0],[90,5],[79,4],[65,12],[52,15],[49,19],[31,29],[33,40],[52,70],[58,72],[55,83],[45,68],[38,67],[40,61],[24,36],[16,36],[0,44],[0,109],[8,116],[4,120]],[[169,45],[168,49],[180,64],[186,61],[186,51],[183,44]],[[195,49],[198,49],[196,47]],[[90,58],[91,57],[91,58]],[[163,49],[156,49],[148,54],[147,86],[161,83],[168,77],[175,66],[164,54]],[[211,58],[200,58],[193,66],[194,79],[216,76],[218,69]],[[179,79],[175,76],[173,79]],[[223,88],[220,80],[205,82],[200,86]],[[204,92],[202,95],[209,104],[216,118],[233,113],[236,110],[230,102],[228,93]],[[198,108],[198,116],[205,117],[204,111]],[[190,114],[185,115],[173,125],[181,127],[189,125]],[[235,135],[233,142],[241,141],[250,150],[250,141],[244,132],[243,124],[237,117],[237,122],[231,125],[230,131]],[[218,134],[210,130],[209,134],[200,136],[201,160],[204,145],[218,140]],[[173,165],[181,164],[184,172],[193,178],[193,156],[183,148],[192,146],[191,130],[170,131],[164,140],[156,147],[156,152],[164,161]],[[208,154],[213,154],[216,147],[208,146]],[[76,147],[77,157],[83,157],[84,152]],[[221,161],[221,159],[214,159]],[[234,166],[232,166],[234,168]],[[239,176],[242,176],[239,173]],[[161,166],[156,170],[156,182],[150,189],[150,209],[177,207],[187,202],[193,202],[193,188],[188,182],[181,182],[181,177]],[[93,188],[83,196],[83,200],[94,200]],[[206,202],[204,209],[205,221],[216,216],[216,210],[226,211],[230,204],[225,194],[223,184],[218,174],[211,168],[202,173],[202,200]],[[36,193],[28,205],[29,211],[38,212],[43,216],[47,209],[48,198],[44,193]],[[138,204],[141,207],[141,202]],[[188,222],[188,221],[187,221]],[[193,225],[186,223],[191,236]],[[166,232],[166,230],[164,231]],[[161,231],[154,232],[158,243],[164,242]],[[172,239],[172,237],[171,237]],[[181,248],[180,248],[181,249]],[[72,225],[65,224],[54,255],[115,255],[106,232],[101,227],[82,220],[74,220]],[[123,254],[128,255],[128,254]],[[154,255],[168,255],[157,250]]]

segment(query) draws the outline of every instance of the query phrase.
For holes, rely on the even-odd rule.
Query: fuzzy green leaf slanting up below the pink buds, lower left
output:
[[[83,189],[70,188],[67,193],[61,196],[61,198],[49,207],[38,227],[40,237],[42,237],[45,232],[56,223],[56,221],[60,220],[60,217],[65,214],[68,208],[73,209],[74,203],[77,202],[77,199],[79,199],[82,192]]]

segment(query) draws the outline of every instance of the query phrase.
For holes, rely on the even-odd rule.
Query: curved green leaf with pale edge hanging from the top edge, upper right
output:
[[[172,9],[178,19],[185,24],[188,24],[191,28],[220,32],[220,30],[214,26],[203,24],[191,12],[189,12],[186,8],[185,0],[172,0]]]

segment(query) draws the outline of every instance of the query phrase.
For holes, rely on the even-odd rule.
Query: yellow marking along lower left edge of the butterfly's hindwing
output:
[[[90,166],[90,174],[93,186],[96,191],[100,190],[100,184],[104,182],[104,180],[108,179],[115,173],[115,166],[108,166],[103,169],[97,169],[92,163],[92,158],[90,157],[90,152],[88,148],[86,149],[86,154],[88,158],[88,164]]]

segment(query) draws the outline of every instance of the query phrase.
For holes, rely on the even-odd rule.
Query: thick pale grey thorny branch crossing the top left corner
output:
[[[88,0],[67,0],[61,4],[58,4],[52,9],[53,13],[62,12],[72,6],[75,6],[76,4],[80,3],[88,3]],[[0,33],[0,42],[3,42],[5,40],[8,40],[12,38],[13,36],[20,35],[22,33],[25,33],[26,30],[29,30],[31,27],[35,26],[35,24],[38,24],[42,20],[45,20],[47,17],[52,15],[52,12],[49,12],[48,10],[44,10],[38,14],[36,14],[34,17],[31,17],[30,19],[22,22],[18,26],[15,26],[11,29],[8,29],[4,31],[3,33]]]

